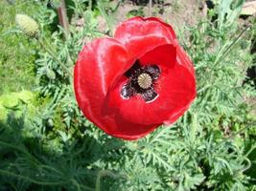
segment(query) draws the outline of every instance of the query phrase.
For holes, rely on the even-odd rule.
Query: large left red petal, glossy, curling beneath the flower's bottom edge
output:
[[[122,44],[110,38],[97,39],[84,46],[79,54],[74,88],[85,117],[111,136],[136,139],[144,137],[159,124],[132,123],[105,107],[108,87],[129,65],[128,53]]]

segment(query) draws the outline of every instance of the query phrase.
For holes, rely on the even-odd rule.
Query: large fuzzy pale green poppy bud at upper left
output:
[[[32,17],[25,14],[16,14],[15,20],[22,32],[30,37],[38,36],[39,26]]]

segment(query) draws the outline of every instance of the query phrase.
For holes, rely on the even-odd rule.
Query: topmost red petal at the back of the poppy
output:
[[[114,38],[123,43],[133,57],[141,57],[155,47],[172,44],[173,28],[158,18],[133,17],[118,26]]]

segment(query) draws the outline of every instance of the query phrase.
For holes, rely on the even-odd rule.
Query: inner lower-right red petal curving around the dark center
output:
[[[141,96],[122,98],[120,91],[127,81],[123,77],[108,91],[109,106],[134,123],[168,123],[180,117],[196,96],[196,83],[195,76],[180,62],[182,58],[174,66],[172,51],[173,45],[160,46],[140,58],[143,62],[157,61],[160,67],[161,74],[155,84],[159,96],[155,100],[146,103]]]

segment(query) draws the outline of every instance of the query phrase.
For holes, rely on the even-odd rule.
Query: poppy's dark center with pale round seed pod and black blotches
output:
[[[125,75],[128,77],[128,82],[120,92],[124,99],[139,95],[146,102],[151,102],[157,98],[158,94],[154,91],[156,80],[160,75],[157,65],[141,66],[140,61],[137,60]]]

